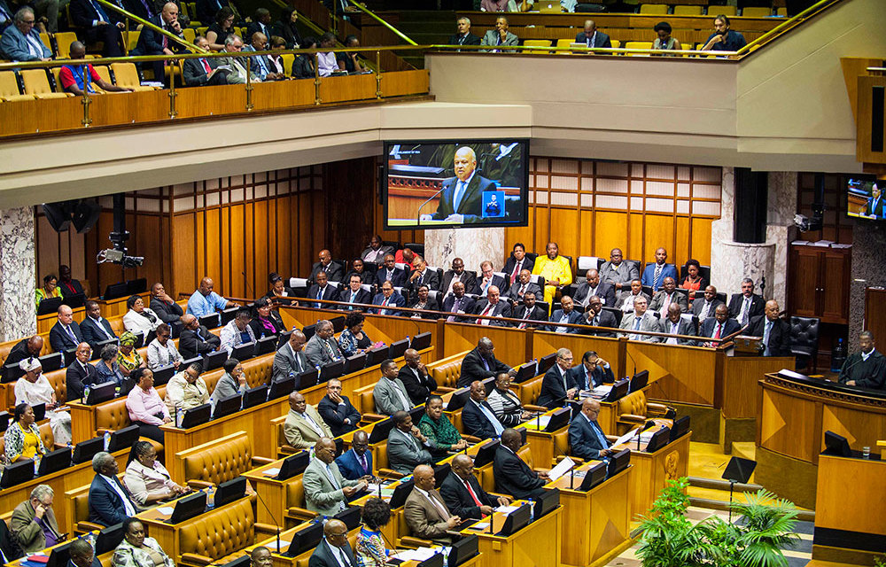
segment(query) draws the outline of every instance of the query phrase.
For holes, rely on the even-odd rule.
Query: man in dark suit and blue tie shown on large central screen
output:
[[[475,175],[477,155],[467,146],[455,151],[455,177],[443,181],[437,212],[423,214],[422,221],[447,221],[455,224],[482,222],[483,191],[495,190],[495,183]]]

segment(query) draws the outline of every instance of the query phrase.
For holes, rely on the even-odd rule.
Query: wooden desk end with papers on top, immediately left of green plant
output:
[[[569,474],[548,483],[545,488],[560,489],[560,504],[565,510],[567,521],[563,523],[560,541],[563,564],[590,565],[604,555],[625,547],[630,540],[631,489],[636,474],[635,465],[622,470],[613,478],[596,485],[587,493],[576,489],[585,472],[596,462],[588,462],[577,469],[574,478]]]

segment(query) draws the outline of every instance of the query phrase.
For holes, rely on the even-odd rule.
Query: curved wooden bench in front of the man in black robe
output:
[[[835,391],[777,375],[758,384],[756,482],[798,506],[816,509],[825,431],[842,435],[856,451],[886,439],[886,400],[864,390]]]

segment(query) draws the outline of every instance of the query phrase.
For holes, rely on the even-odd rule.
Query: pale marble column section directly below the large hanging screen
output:
[[[504,229],[425,229],[424,259],[444,271],[454,258],[464,268],[478,272],[480,262],[490,260],[495,268],[504,265]]]

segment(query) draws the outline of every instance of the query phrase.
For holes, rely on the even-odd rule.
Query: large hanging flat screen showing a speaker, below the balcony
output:
[[[385,229],[525,225],[529,141],[386,142],[382,186]]]

